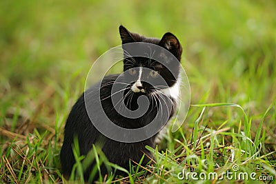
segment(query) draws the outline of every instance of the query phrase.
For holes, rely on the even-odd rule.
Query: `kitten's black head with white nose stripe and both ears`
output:
[[[124,72],[133,81],[132,92],[173,88],[179,77],[182,54],[177,37],[167,32],[161,39],[147,38],[128,31],[123,25],[119,26],[119,33],[124,49]]]

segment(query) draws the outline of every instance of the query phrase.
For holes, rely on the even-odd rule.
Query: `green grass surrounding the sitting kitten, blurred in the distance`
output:
[[[275,183],[274,1],[31,0],[0,6],[1,183],[66,183],[59,163],[64,123],[92,62],[121,43],[121,23],[148,37],[177,36],[192,106],[180,130],[168,131],[157,149],[148,147],[155,155],[148,167],[132,163],[137,166],[126,171],[94,147],[99,157],[88,159],[128,172],[101,181],[202,183],[177,174],[221,176],[236,164],[237,173],[273,176],[242,182]],[[80,174],[72,178],[82,181],[83,157],[75,151]]]

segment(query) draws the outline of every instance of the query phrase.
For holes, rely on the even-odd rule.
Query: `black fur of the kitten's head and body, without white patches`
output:
[[[159,39],[151,39],[146,38],[143,36],[140,36],[139,34],[129,32],[124,28],[122,25],[119,27],[119,32],[121,35],[122,43],[131,43],[131,42],[147,42],[147,43],[153,43],[156,45],[161,45],[162,47],[169,50],[172,54],[175,55],[175,57],[180,61],[181,58],[181,45],[177,38],[171,34],[166,33],[164,34],[164,37]],[[170,42],[170,47],[166,47],[166,44]],[[164,68],[163,65],[160,63],[148,63],[148,61],[144,61],[142,58],[135,58],[135,61],[137,63],[141,64],[143,63],[144,67],[146,68],[154,68],[155,70],[158,70],[159,74],[166,79],[169,86],[172,86],[175,83],[175,77],[172,76],[172,74]],[[134,63],[129,63],[127,59],[124,60],[124,71],[128,70],[129,68],[137,67]],[[146,64],[148,63],[148,64]],[[175,65],[175,72],[179,72],[179,63],[173,63]],[[103,81],[101,82],[101,90],[100,90],[100,96],[101,96],[101,104],[99,104],[97,101],[95,101],[95,90],[98,90],[97,85],[92,86],[86,94],[89,94],[88,99],[90,99],[90,104],[93,105],[95,108],[95,112],[97,112],[97,108],[100,108],[101,105],[103,107],[103,110],[108,115],[108,118],[115,123],[116,125],[119,125],[121,127],[126,128],[137,128],[137,127],[143,127],[144,125],[147,125],[154,119],[154,117],[157,114],[157,109],[159,106],[159,103],[161,101],[150,101],[150,108],[144,116],[141,116],[138,119],[128,119],[124,116],[121,116],[118,114],[118,112],[113,108],[112,101],[110,98],[111,95],[111,88],[114,83],[114,81],[117,79],[119,75],[110,75],[105,76]],[[130,84],[131,85],[131,84]],[[141,95],[148,95],[150,93],[150,86],[147,86],[146,83],[143,83],[145,86],[146,93],[136,92],[133,93],[132,99],[128,101],[129,99],[126,98],[124,101],[126,103],[126,106],[130,108],[130,110],[135,110],[137,108],[137,98]],[[128,90],[126,90],[128,92]],[[161,95],[161,94],[159,94]],[[166,96],[167,97],[167,96]],[[170,96],[168,96],[170,98]],[[173,103],[173,107],[175,107],[175,99],[170,98],[171,102]],[[169,116],[172,116],[174,114],[175,108],[172,109]],[[93,116],[97,117],[97,113],[93,114]],[[101,117],[97,117],[98,121],[97,123],[101,123]],[[116,133],[116,132],[115,132]],[[126,168],[126,170],[129,170],[129,159],[132,159],[133,161],[136,161],[137,163],[140,161],[143,154],[147,154],[148,156],[152,157],[152,154],[146,150],[145,146],[149,145],[150,147],[155,147],[155,136],[152,136],[150,139],[146,139],[145,141],[140,141],[138,143],[121,143],[118,141],[113,141],[111,139],[108,139],[106,136],[103,136],[91,123],[88,113],[86,112],[86,106],[84,103],[84,94],[82,94],[75,105],[72,107],[72,110],[68,116],[65,130],[64,130],[64,141],[61,148],[60,153],[60,159],[61,159],[61,166],[62,166],[62,173],[63,175],[68,178],[72,172],[72,167],[75,164],[75,157],[72,152],[72,145],[74,136],[77,136],[77,140],[79,143],[79,150],[81,155],[87,155],[88,152],[92,149],[93,144],[101,144],[102,151],[106,155],[107,159],[111,163],[115,163],[117,165],[120,165],[121,167]],[[142,165],[146,165],[150,159],[148,159],[147,156],[144,157],[144,161]],[[95,166],[95,162],[91,163],[90,167],[84,172],[84,178],[86,181],[88,181],[88,178],[90,176],[90,173],[92,171],[92,168]],[[105,174],[108,174],[108,170],[104,165],[101,166],[101,174],[104,176]],[[122,174],[122,173],[119,173]],[[98,175],[95,176],[94,180],[97,180]]]

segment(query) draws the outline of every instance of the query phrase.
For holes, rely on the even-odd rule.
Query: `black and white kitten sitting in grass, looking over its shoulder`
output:
[[[133,82],[128,83],[127,87],[124,88],[124,99],[121,102],[124,103],[126,108],[130,111],[135,111],[139,108],[137,100],[140,96],[146,96],[149,101],[148,110],[146,110],[143,116],[140,116],[137,119],[122,116],[114,108],[115,105],[112,103],[111,91],[112,86],[115,85],[119,74],[105,76],[101,81],[100,103],[97,102],[95,96],[93,96],[95,92],[99,90],[99,85],[92,86],[85,92],[88,94],[86,98],[90,101],[89,105],[91,105],[93,110],[95,110],[95,113],[92,114],[92,116],[96,122],[91,123],[90,117],[88,116],[85,104],[85,93],[79,97],[68,116],[64,131],[64,141],[60,153],[62,172],[66,178],[70,176],[72,167],[76,162],[72,151],[74,137],[77,137],[79,152],[81,155],[87,156],[88,152],[89,154],[92,154],[92,152],[90,152],[92,145],[100,143],[101,150],[106,155],[108,161],[124,167],[126,170],[129,170],[130,159],[139,163],[143,154],[146,154],[147,156],[144,156],[144,160],[142,162],[142,165],[146,165],[150,161],[148,156],[152,157],[152,154],[145,148],[145,146],[148,145],[155,148],[159,138],[158,133],[148,139],[145,139],[144,141],[135,143],[114,141],[101,134],[101,132],[99,132],[99,130],[97,130],[97,128],[93,125],[95,123],[102,123],[101,116],[97,114],[97,109],[103,108],[104,112],[106,112],[106,115],[108,116],[108,119],[110,119],[112,123],[115,123],[115,125],[118,125],[119,127],[128,129],[141,128],[151,123],[151,121],[155,119],[155,116],[157,116],[158,110],[160,110],[163,103],[166,104],[163,104],[161,111],[163,111],[164,114],[169,111],[167,114],[168,119],[170,119],[170,117],[175,113],[177,99],[179,97],[179,68],[182,53],[182,48],[177,38],[170,32],[164,34],[161,40],[146,38],[140,36],[139,34],[129,32],[122,25],[119,26],[119,33],[121,35],[123,48],[126,43],[151,43],[166,49],[170,52],[170,54],[172,54],[173,57],[175,57],[175,59],[168,59],[168,56],[160,50],[152,51],[151,48],[142,48],[145,52],[148,52],[148,55],[153,54],[154,52],[154,54],[159,57],[165,57],[166,64],[170,66],[170,70],[168,70],[168,67],[166,67],[164,63],[160,63],[154,59],[135,56],[132,57],[131,47],[126,48],[126,50],[124,49],[124,74],[120,77],[123,79],[132,79]],[[152,85],[152,83],[146,82],[146,79],[148,79],[158,83],[160,80],[158,77],[164,79],[167,85],[155,85],[154,82]],[[171,106],[172,108],[168,108],[168,106]],[[161,122],[161,119],[157,121]],[[166,122],[164,122],[161,127],[166,125],[168,119],[166,119]],[[147,131],[148,130],[145,130],[145,134]],[[158,131],[161,132],[162,130]],[[114,133],[116,134],[117,132]],[[84,171],[84,178],[86,181],[88,181],[90,173],[94,167],[95,161],[90,164],[87,170]],[[103,165],[101,166],[101,174],[103,176],[108,174],[108,170]],[[97,177],[98,176],[90,178],[89,181],[94,181]]]

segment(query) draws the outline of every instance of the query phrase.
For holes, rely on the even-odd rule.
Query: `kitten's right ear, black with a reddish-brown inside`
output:
[[[170,32],[165,33],[161,41],[159,42],[159,45],[163,48],[166,48],[168,51],[172,52],[172,54],[174,54],[175,57],[180,61],[182,48],[175,35],[173,35]]]

